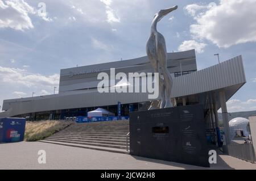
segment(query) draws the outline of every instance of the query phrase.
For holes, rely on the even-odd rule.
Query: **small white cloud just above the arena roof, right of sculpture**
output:
[[[195,49],[197,53],[203,53],[206,45],[207,44],[200,43],[195,40],[188,40],[188,41],[183,41],[183,43],[179,46],[178,50],[185,51],[185,50]]]

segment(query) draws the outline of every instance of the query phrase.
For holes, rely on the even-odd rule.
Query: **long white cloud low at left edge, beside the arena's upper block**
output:
[[[26,70],[16,68],[4,68],[0,66],[0,85],[22,85],[25,87],[59,85],[59,75],[44,76],[41,74],[27,73]]]

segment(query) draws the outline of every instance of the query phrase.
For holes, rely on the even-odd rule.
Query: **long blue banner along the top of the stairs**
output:
[[[127,120],[129,116],[109,116],[109,117],[84,117],[77,116],[76,123],[90,123],[90,122],[98,122],[98,121],[117,121],[117,120]]]

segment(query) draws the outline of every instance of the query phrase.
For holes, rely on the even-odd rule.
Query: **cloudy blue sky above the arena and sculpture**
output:
[[[0,0],[0,105],[53,94],[60,69],[146,56],[154,14],[175,5],[158,23],[167,51],[196,49],[198,70],[241,54],[228,111],[256,110],[256,0]]]

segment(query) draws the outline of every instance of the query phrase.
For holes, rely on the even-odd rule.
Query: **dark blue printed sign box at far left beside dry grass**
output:
[[[1,118],[0,142],[18,142],[24,140],[26,119]]]

